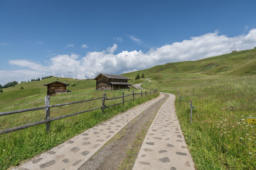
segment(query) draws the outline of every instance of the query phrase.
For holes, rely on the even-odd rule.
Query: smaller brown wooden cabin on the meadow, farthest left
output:
[[[62,83],[60,81],[55,81],[52,83],[48,83],[44,86],[47,86],[47,95],[54,95],[55,93],[66,93],[67,92],[66,86],[69,86],[69,85]]]

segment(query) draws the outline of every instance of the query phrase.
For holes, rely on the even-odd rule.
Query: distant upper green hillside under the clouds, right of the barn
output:
[[[245,76],[256,74],[256,49],[237,51],[220,56],[167,63],[140,71],[123,74],[135,80],[137,74],[144,73],[146,78],[163,80],[170,78],[218,76]],[[176,74],[175,74],[176,73]],[[182,74],[183,73],[183,74]]]

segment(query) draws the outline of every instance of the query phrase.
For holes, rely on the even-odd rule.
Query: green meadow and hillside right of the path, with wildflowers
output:
[[[134,81],[142,73],[145,79]],[[132,84],[149,78],[152,82],[142,87],[175,94],[176,114],[197,170],[255,170],[256,124],[249,124],[247,117],[256,117],[256,49],[124,76]]]

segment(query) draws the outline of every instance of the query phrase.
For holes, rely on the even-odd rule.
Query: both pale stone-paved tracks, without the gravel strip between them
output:
[[[133,170],[194,170],[177,120],[173,94],[157,112],[142,144]],[[15,170],[77,170],[132,119],[165,95],[138,105],[92,127]]]

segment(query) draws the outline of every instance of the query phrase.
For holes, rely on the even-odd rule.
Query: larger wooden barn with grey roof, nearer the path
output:
[[[96,80],[96,90],[117,90],[117,89],[128,89],[129,78],[121,75],[113,74],[99,74],[94,78]]]

